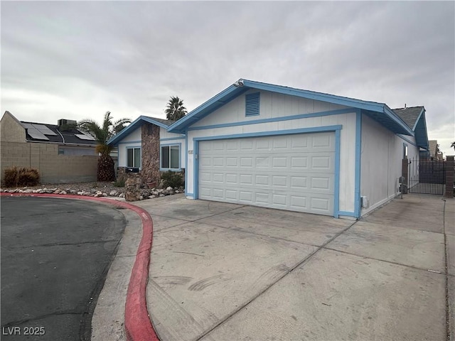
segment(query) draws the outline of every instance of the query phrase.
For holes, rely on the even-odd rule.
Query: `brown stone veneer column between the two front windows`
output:
[[[159,126],[150,123],[142,124],[141,138],[141,178],[145,183],[156,181],[159,184],[161,179],[159,171]]]

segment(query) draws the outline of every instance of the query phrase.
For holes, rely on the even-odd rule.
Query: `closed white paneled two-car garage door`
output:
[[[200,141],[198,197],[333,215],[335,134]]]

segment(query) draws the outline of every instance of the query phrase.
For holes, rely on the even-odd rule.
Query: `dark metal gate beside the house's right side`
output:
[[[408,192],[444,194],[446,184],[445,161],[424,158],[408,160]]]

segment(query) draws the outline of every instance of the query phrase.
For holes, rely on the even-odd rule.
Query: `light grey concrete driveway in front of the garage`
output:
[[[181,195],[135,204],[154,220],[161,340],[446,340],[454,200],[406,195],[358,222]]]

